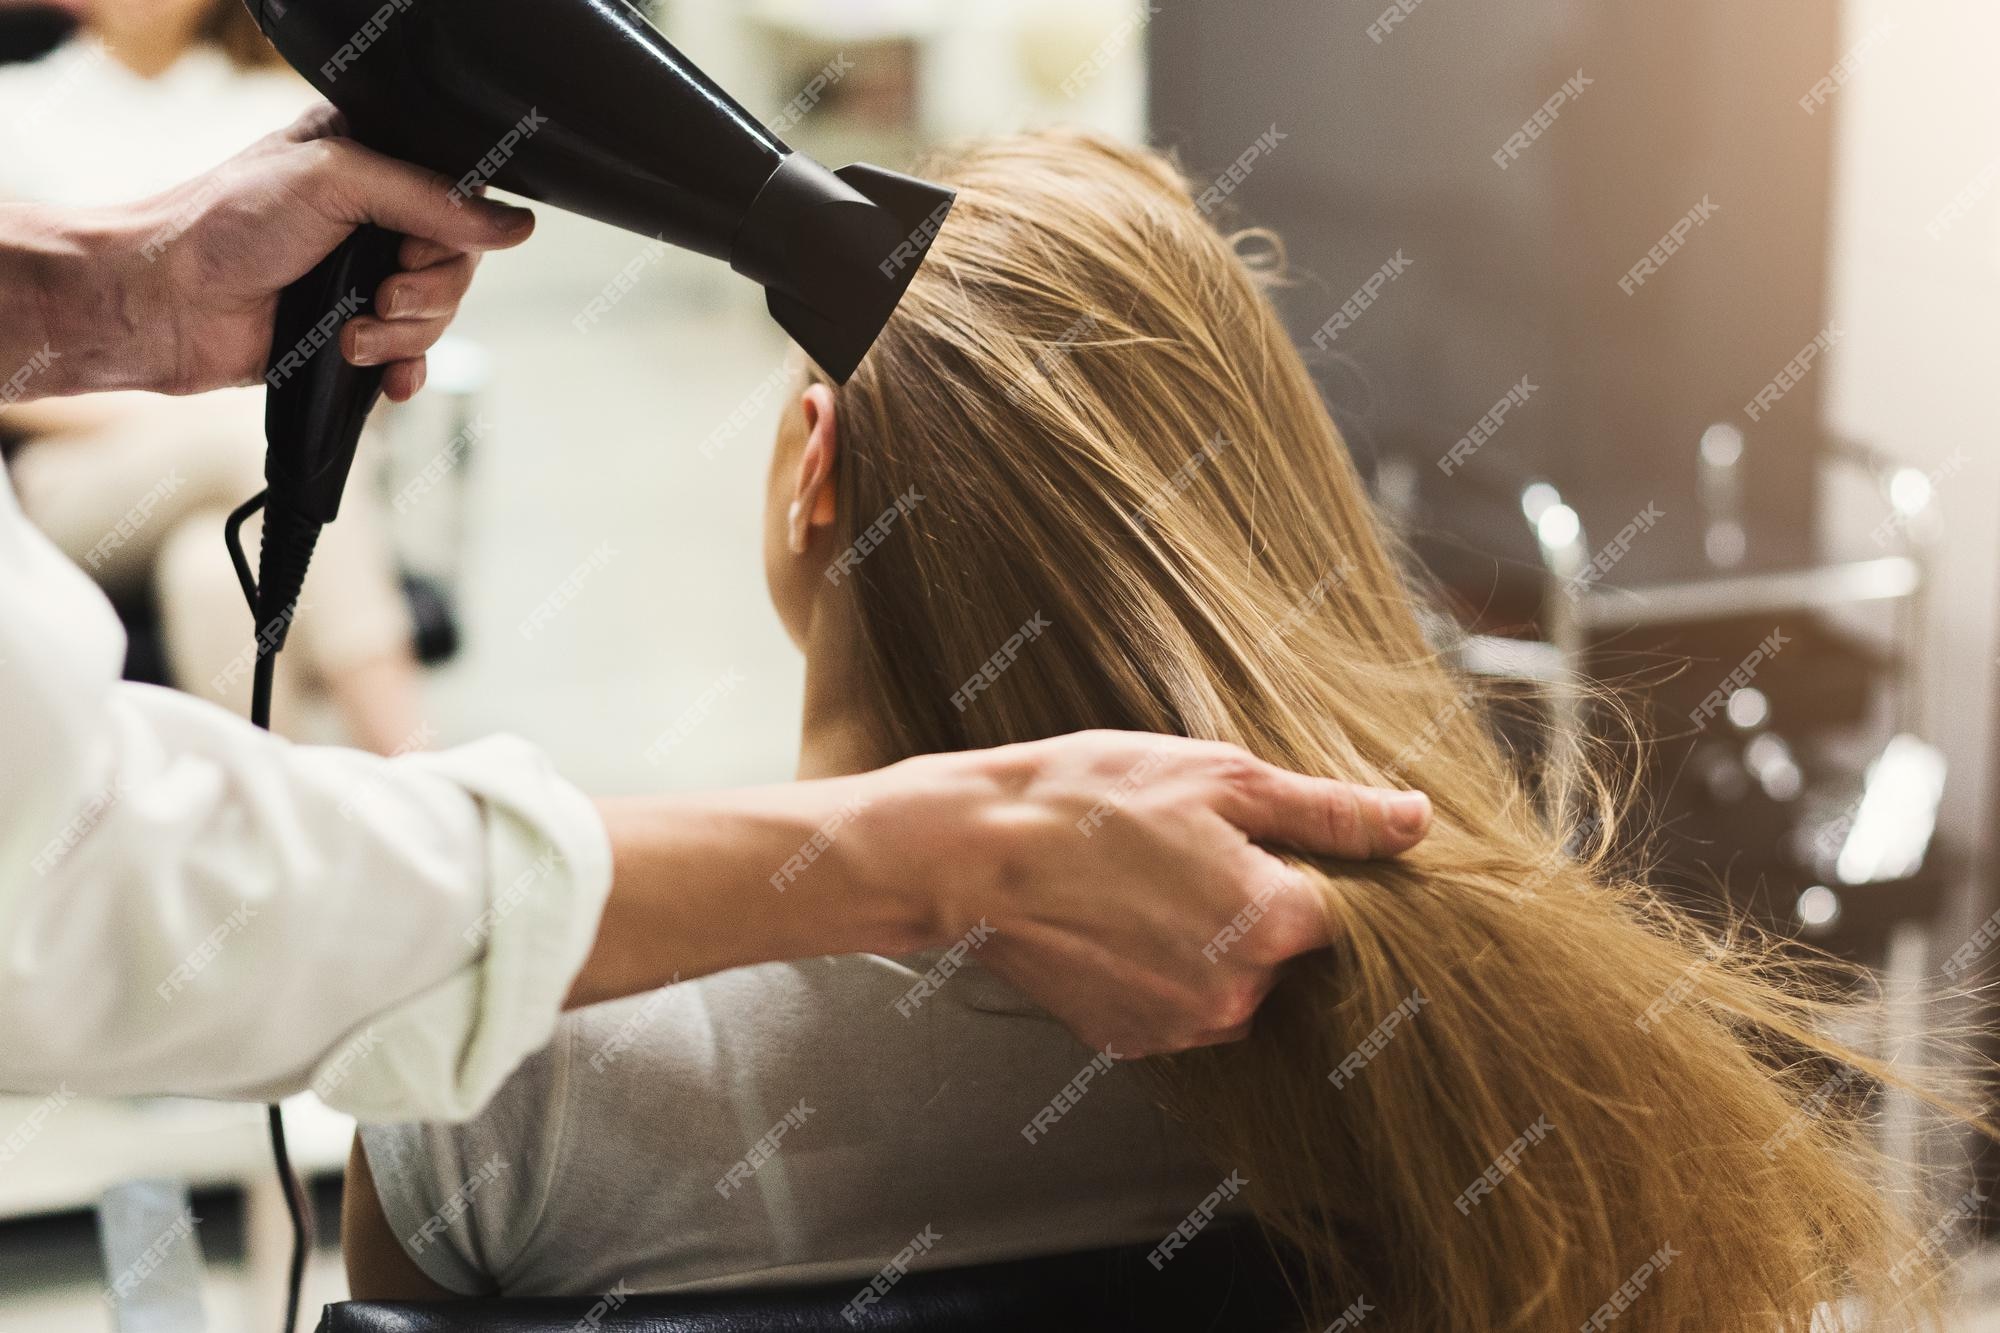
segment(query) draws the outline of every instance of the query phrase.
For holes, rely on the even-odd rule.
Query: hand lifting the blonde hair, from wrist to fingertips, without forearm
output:
[[[946,935],[1116,1057],[1236,1041],[1278,965],[1328,943],[1298,871],[1414,847],[1430,803],[1306,779],[1232,745],[1092,731],[886,769]]]

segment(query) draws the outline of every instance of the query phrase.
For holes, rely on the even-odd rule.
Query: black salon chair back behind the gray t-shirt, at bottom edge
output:
[[[1216,1225],[1154,1269],[1152,1245],[720,1295],[328,1305],[320,1333],[1298,1333],[1286,1275],[1256,1231]],[[852,1315],[852,1323],[850,1323]]]

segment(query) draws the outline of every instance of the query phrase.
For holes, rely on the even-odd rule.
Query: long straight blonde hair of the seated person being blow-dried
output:
[[[1248,1041],[1146,1063],[1314,1327],[1354,1299],[1384,1333],[1930,1319],[1864,1133],[1882,1069],[1800,969],[1608,871],[1608,821],[1566,845],[1186,180],[1064,132],[926,170],[958,204],[836,390],[842,522],[906,508],[844,584],[894,755],[1124,727],[1436,807],[1400,861],[1312,863],[1336,945]]]

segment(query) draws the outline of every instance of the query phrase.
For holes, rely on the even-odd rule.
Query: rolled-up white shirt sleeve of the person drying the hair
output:
[[[122,656],[0,474],[0,1089],[478,1111],[596,937],[590,801],[522,741],[298,747]]]

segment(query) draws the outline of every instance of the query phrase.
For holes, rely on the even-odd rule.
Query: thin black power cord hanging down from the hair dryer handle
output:
[[[242,528],[252,514],[264,508],[266,494],[266,490],[258,490],[238,504],[224,524],[224,536],[230,544],[230,562],[236,566],[236,580],[244,588],[244,600],[250,602],[250,614],[256,616],[256,675],[250,685],[250,721],[270,731],[270,689],[278,666],[278,648],[284,646],[284,632],[298,610],[298,590],[306,580],[306,564],[312,560],[312,546],[320,524],[310,518],[286,514],[284,510],[266,512],[264,542],[258,552],[264,578],[258,580],[252,576],[250,558],[244,554]],[[302,530],[302,526],[310,530]],[[284,1187],[284,1211],[292,1217],[292,1271],[282,1329],[282,1333],[292,1333],[298,1327],[298,1301],[306,1283],[306,1255],[312,1249],[312,1205],[306,1199],[306,1187],[300,1183],[298,1173],[292,1171],[292,1149],[284,1141],[284,1109],[272,1103],[264,1111],[270,1121],[270,1155],[278,1167],[278,1183]]]

